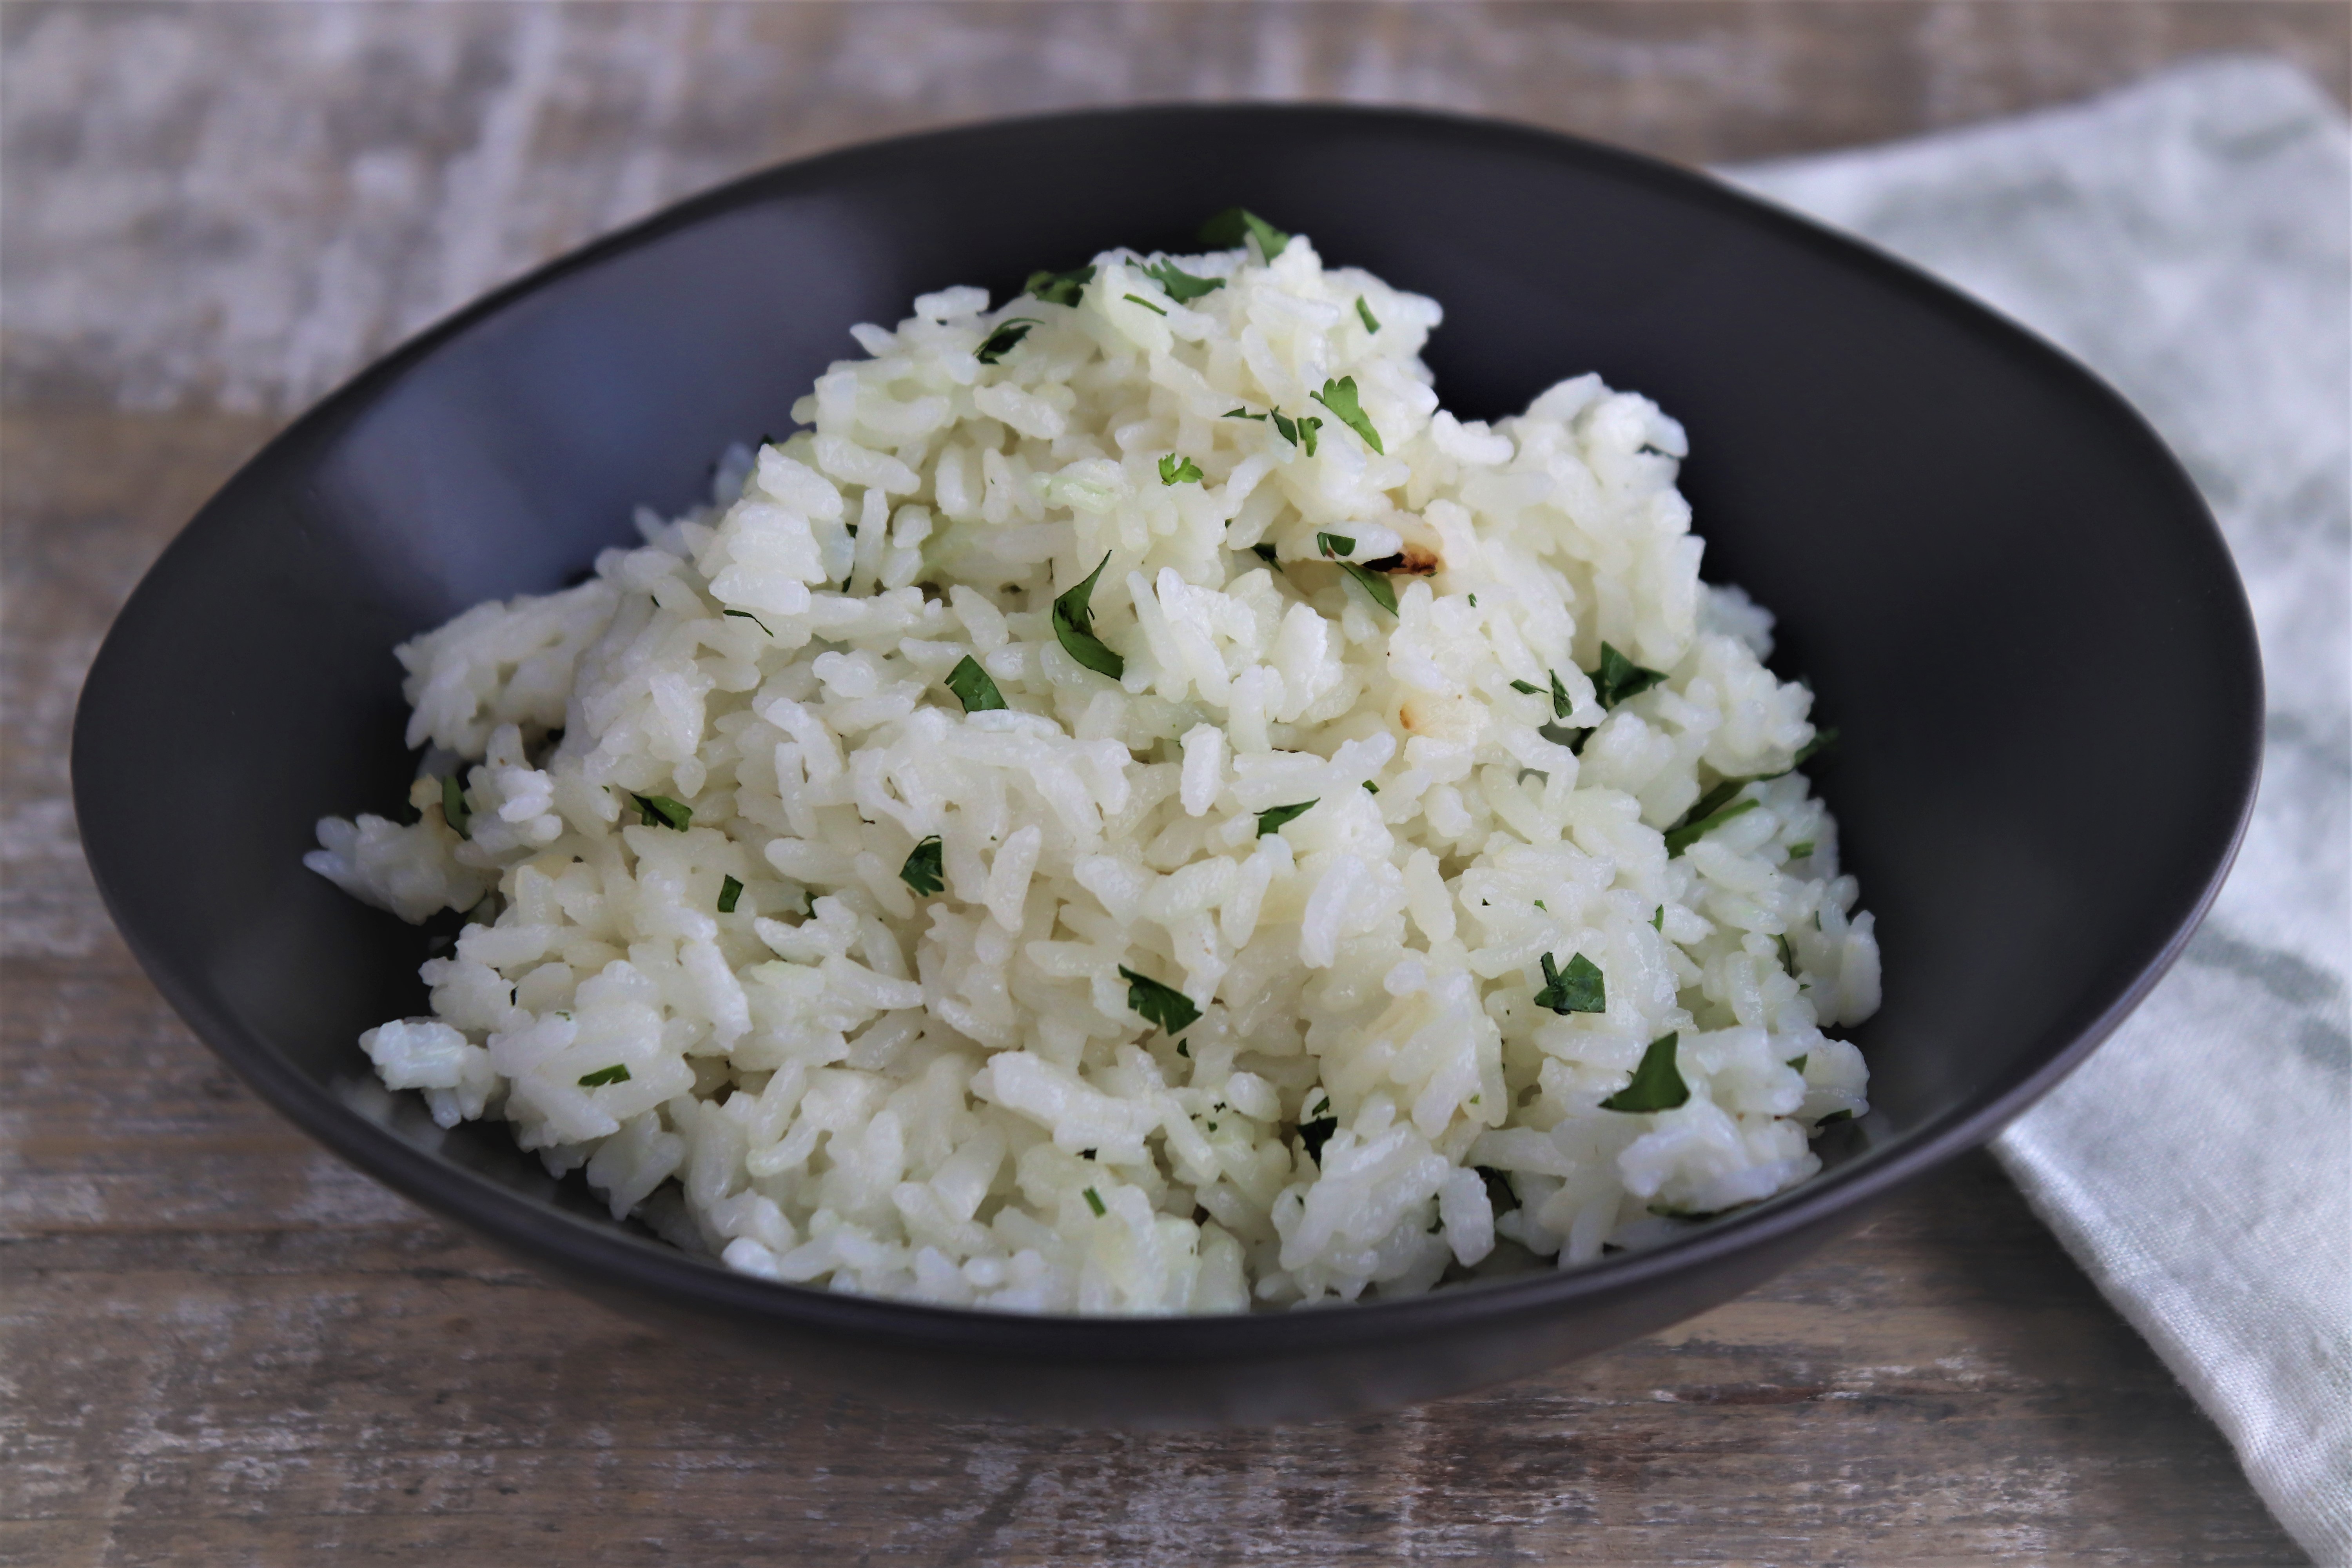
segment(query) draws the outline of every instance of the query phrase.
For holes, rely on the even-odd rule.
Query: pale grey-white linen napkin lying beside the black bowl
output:
[[[2253,827],[2187,954],[1994,1152],[2352,1566],[2352,136],[2218,56],[2091,103],[1729,172],[2107,376],[2187,463],[2253,599]],[[2119,780],[2129,785],[2129,780]]]

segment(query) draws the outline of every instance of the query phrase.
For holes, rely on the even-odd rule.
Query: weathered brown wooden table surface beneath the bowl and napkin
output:
[[[0,47],[0,1561],[2305,1561],[1987,1157],[1708,1316],[1378,1420],[1122,1436],[802,1396],[261,1107],[99,910],[66,733],[139,574],[306,400],[769,160],[1345,96],[1717,162],[2201,49],[2343,99],[2343,5],[9,5]]]

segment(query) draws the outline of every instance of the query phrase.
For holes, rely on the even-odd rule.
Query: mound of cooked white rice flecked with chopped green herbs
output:
[[[1811,1175],[1879,997],[1811,693],[1700,585],[1672,418],[1456,421],[1437,322],[1279,235],[927,294],[710,508],[397,649],[419,820],[306,860],[470,910],[383,1081],[748,1274],[1023,1312]]]

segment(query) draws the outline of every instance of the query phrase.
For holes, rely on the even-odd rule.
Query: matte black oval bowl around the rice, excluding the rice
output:
[[[367,1091],[428,936],[301,867],[414,759],[390,649],[574,578],[790,428],[847,327],[1000,296],[1242,202],[1435,296],[1449,407],[1597,369],[1679,416],[1708,574],[1780,616],[1844,729],[1823,792],[1879,914],[1875,1110],[1813,1182],[1670,1246],[1402,1302],[1011,1316],[764,1284],[614,1225],[499,1124]],[[1355,108],[1150,108],[771,169],[390,355],[254,458],[99,654],[73,783],[132,950],[263,1098],[567,1284],[880,1399],[1035,1420],[1291,1420],[1454,1394],[1712,1307],[1990,1138],[2082,1060],[2213,898],[2253,797],[2260,665],[2204,503],[2091,374],[1959,294],[1705,176],[1543,132]],[[402,1095],[405,1100],[405,1095]],[[691,1394],[684,1394],[691,1396]]]

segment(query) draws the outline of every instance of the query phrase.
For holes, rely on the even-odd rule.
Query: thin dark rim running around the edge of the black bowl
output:
[[[1893,1190],[1926,1175],[1947,1159],[1985,1143],[2006,1121],[2023,1114],[2034,1100],[2067,1077],[2093,1048],[2098,1048],[2126,1016],[2164,978],[2183,947],[2197,933],[2213,898],[2237,860],[2253,813],[2256,783],[2263,759],[2263,670],[2256,642],[2253,616],[2244,583],[2232,569],[2227,590],[2237,621],[2244,675],[2251,701],[2244,705],[2246,724],[2237,736],[2234,773],[2237,806],[2227,839],[2213,858],[2206,877],[2171,929],[2171,936],[2140,964],[2129,985],[2098,1009],[2070,1039],[2042,1058],[2016,1063],[2009,1072],[1990,1077],[1955,1107],[1891,1138],[1884,1145],[1858,1152],[1853,1159],[1825,1168],[1797,1187],[1790,1187],[1755,1206],[1696,1227],[1691,1234],[1670,1241],[1597,1258],[1564,1269],[1536,1269],[1501,1279],[1465,1281],[1458,1288],[1430,1291],[1423,1295],[1355,1300],[1343,1312],[1341,1302],[1322,1302],[1317,1309],[1251,1309],[1240,1314],[1178,1314],[1178,1316],[1087,1316],[1002,1312],[988,1307],[948,1307],[903,1298],[851,1295],[823,1286],[802,1286],[741,1274],[715,1258],[703,1258],[675,1248],[666,1241],[633,1237],[600,1220],[567,1213],[553,1204],[515,1192],[496,1180],[475,1175],[461,1164],[445,1159],[393,1128],[365,1117],[343,1103],[329,1086],[306,1077],[280,1053],[249,1034],[238,1020],[214,1009],[202,987],[176,973],[162,959],[141,929],[136,905],[127,900],[118,879],[108,870],[103,827],[106,811],[94,809],[94,785],[80,766],[85,745],[96,724],[94,708],[103,710],[103,693],[115,679],[122,637],[120,628],[136,618],[141,602],[160,597],[179,564],[200,550],[202,536],[228,527],[238,501],[254,475],[266,463],[285,461],[287,451],[318,444],[346,421],[362,414],[393,383],[414,367],[433,357],[442,346],[468,334],[477,324],[501,315],[510,306],[557,284],[572,273],[602,266],[609,259],[654,244],[673,233],[694,228],[788,197],[800,190],[818,190],[828,183],[856,179],[866,162],[896,162],[922,158],[927,148],[948,139],[974,134],[1028,132],[1040,127],[1065,127],[1082,132],[1087,125],[1120,120],[1204,120],[1204,118],[1265,118],[1265,120],[1327,120],[1359,122],[1367,127],[1406,129],[1446,143],[1479,143],[1486,150],[1517,150],[1524,155],[1569,162],[1604,179],[1649,186],[1686,205],[1712,209],[1715,216],[1736,223],[1764,226],[1780,237],[1811,252],[1830,252],[1839,266],[1875,273],[1877,282],[1905,294],[1912,303],[1929,306],[1943,315],[1962,315],[1978,334],[2006,341],[2006,348],[2034,362],[2037,376],[2058,376],[2103,397],[2122,414],[2150,447],[2150,456],[2169,468],[2169,480],[2190,503],[2190,512],[2211,534],[2213,545],[2227,559],[2227,543],[2213,522],[2211,508],[2194,482],[2154,433],[2147,418],[2124,400],[2105,378],[2056,348],[2037,331],[2013,322],[1997,308],[1962,294],[1957,287],[1926,270],[1882,252],[1879,247],[1832,230],[1804,214],[1780,207],[1717,179],[1703,169],[1684,167],[1649,153],[1611,146],[1588,136],[1557,132],[1541,125],[1465,115],[1432,108],[1359,106],[1359,103],[1124,103],[1108,108],[1054,110],[1016,118],[981,118],[929,127],[920,132],[858,141],[828,148],[807,158],[767,165],[748,174],[694,193],[659,212],[628,223],[609,235],[574,247],[508,284],[492,289],[473,303],[445,315],[435,324],[395,346],[339,388],[318,400],[310,409],[270,437],[238,473],[195,512],[195,517],[158,555],[139,585],[115,614],[113,628],[92,661],[75,708],[73,726],[73,804],[82,823],[85,858],[99,889],[106,912],[113,917],[127,947],[148,973],[162,997],[188,1020],[198,1039],[223,1058],[273,1110],[318,1140],[339,1159],[358,1166],[367,1175],[393,1187],[402,1197],[419,1201],[437,1215],[456,1220],[492,1239],[499,1248],[539,1260],[564,1276],[593,1274],[609,1286],[666,1298],[680,1309],[720,1309],[729,1316],[795,1321],[804,1328],[837,1338],[887,1342],[906,1349],[960,1349],[985,1347],[1007,1359],[1054,1359],[1068,1361],[1087,1356],[1094,1361],[1181,1361],[1204,1352],[1235,1359],[1279,1356],[1308,1347],[1345,1349],[1376,1340],[1395,1340],[1423,1331],[1498,1319],[1529,1312],[1573,1309],[1637,1288],[1665,1274],[1705,1269],[1738,1253],[1764,1251],[1776,1239],[1799,1239],[1806,1232],[1825,1234],[1839,1215],[1858,1222],[1867,1208]],[[2227,757],[2216,759],[2216,769]],[[1867,1119],[1865,1119],[1867,1121]]]

